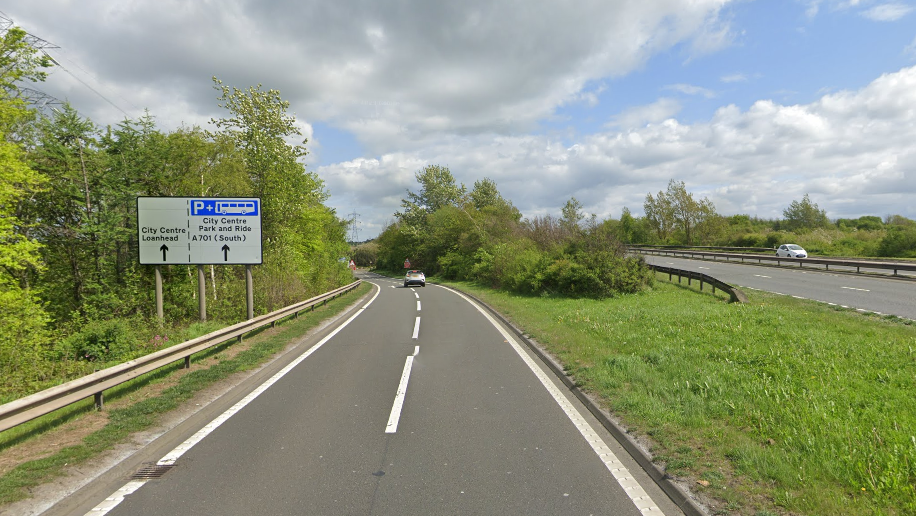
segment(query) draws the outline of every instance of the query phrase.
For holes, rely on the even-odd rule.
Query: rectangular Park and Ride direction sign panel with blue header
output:
[[[261,199],[137,197],[140,263],[260,264]]]

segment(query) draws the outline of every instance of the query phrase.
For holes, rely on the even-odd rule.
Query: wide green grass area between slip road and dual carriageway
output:
[[[916,326],[658,281],[604,301],[456,283],[511,318],[727,514],[916,514]]]

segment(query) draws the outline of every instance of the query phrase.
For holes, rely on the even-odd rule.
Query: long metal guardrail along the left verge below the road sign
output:
[[[191,355],[207,348],[222,344],[230,339],[242,339],[242,336],[264,326],[274,326],[277,321],[286,317],[298,317],[300,312],[313,309],[316,305],[327,303],[329,300],[345,294],[362,283],[356,280],[349,285],[326,292],[300,303],[281,308],[269,314],[261,315],[196,339],[191,339],[181,344],[151,353],[141,358],[124,362],[116,366],[97,371],[76,380],[60,384],[50,389],[45,389],[30,396],[0,405],[0,432],[25,423],[37,417],[54,412],[59,408],[76,403],[80,400],[95,397],[96,407],[102,408],[103,392],[105,389],[120,385],[142,374],[148,373],[184,359],[184,366],[190,366]]]

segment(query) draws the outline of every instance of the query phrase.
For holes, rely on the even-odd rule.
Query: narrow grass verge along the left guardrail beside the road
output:
[[[72,466],[94,457],[122,442],[131,433],[155,425],[164,413],[177,408],[182,402],[190,399],[201,389],[228,378],[234,373],[259,366],[286,347],[291,340],[300,337],[309,329],[317,326],[322,320],[340,312],[357,299],[358,296],[365,294],[371,288],[370,284],[364,283],[356,289],[355,295],[351,293],[341,296],[329,301],[325,306],[316,307],[313,312],[303,312],[298,319],[287,319],[285,324],[279,326],[279,331],[252,338],[251,340],[254,342],[249,349],[242,351],[231,359],[221,360],[207,369],[199,369],[184,375],[174,386],[163,390],[159,396],[111,410],[108,423],[100,430],[87,436],[81,444],[64,448],[50,457],[21,464],[0,477],[0,507],[27,498],[31,488],[59,476],[64,466]],[[221,350],[230,346],[231,342],[234,341],[193,355],[192,361],[204,356],[217,356]],[[138,388],[136,384],[149,384],[173,372],[177,367],[164,369],[166,371],[152,372],[133,380],[130,383],[134,385],[125,384],[122,390],[124,392],[136,390]],[[113,394],[106,391],[106,400],[116,399],[117,394],[117,391]],[[91,401],[86,403],[91,403]],[[63,417],[73,417],[73,412],[85,411],[86,409],[86,407],[69,409],[69,412]],[[54,417],[62,416],[56,413],[45,416],[45,418]],[[39,423],[38,427],[32,430],[32,433],[46,428],[53,428],[54,426],[57,425],[47,422]],[[21,428],[13,428],[0,433],[0,449],[8,447],[10,441],[20,442],[23,440],[23,432]]]

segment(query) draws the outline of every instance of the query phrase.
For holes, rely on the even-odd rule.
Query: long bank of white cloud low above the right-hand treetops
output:
[[[547,136],[448,138],[427,151],[386,156],[388,168],[379,166],[385,172],[368,175],[365,183],[354,175],[343,189],[335,185],[347,174],[344,164],[321,172],[332,191],[358,190],[365,202],[376,191],[387,196],[385,216],[403,197],[403,189],[382,187],[386,174],[398,178],[399,188],[416,189],[413,172],[439,163],[466,184],[494,179],[526,216],[559,213],[570,196],[600,217],[619,217],[624,206],[641,213],[646,193],[673,178],[725,214],[780,217],[792,200],[810,193],[834,218],[892,212],[913,218],[913,106],[916,67],[810,104],[723,106],[692,125],[671,118],[677,103],[663,98],[622,113],[612,129],[570,146]]]

